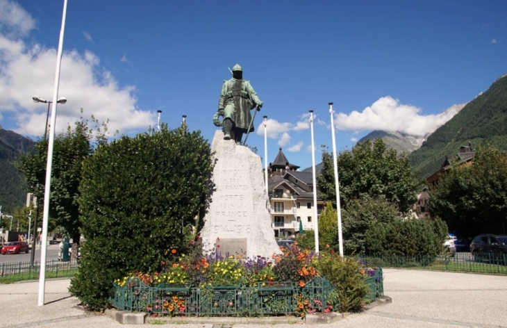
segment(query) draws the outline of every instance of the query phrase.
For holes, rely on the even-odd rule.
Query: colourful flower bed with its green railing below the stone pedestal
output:
[[[327,268],[324,263],[331,266]],[[350,286],[344,286],[349,280],[338,278],[343,284],[333,284],[331,281],[337,278],[322,277],[318,268],[323,272],[345,268],[342,276],[360,281],[363,287],[349,295]],[[285,281],[278,281],[281,278]],[[135,273],[115,281],[110,302],[119,310],[148,312],[153,316],[304,318],[307,313],[354,310],[357,309],[354,304],[363,306],[381,295],[381,268],[367,268],[354,259],[325,252],[316,256],[292,245],[283,255],[270,260],[182,255],[169,262],[161,273]]]

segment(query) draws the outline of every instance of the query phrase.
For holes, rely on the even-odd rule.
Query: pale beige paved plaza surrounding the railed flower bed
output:
[[[312,327],[507,327],[507,276],[396,269],[385,269],[384,274],[391,304]],[[108,315],[83,311],[68,287],[69,279],[48,280],[46,304],[38,306],[38,281],[0,285],[0,327],[125,327]],[[180,318],[165,327],[222,327],[217,318],[215,323],[204,320]],[[248,320],[226,318],[224,327],[297,325],[244,323]]]

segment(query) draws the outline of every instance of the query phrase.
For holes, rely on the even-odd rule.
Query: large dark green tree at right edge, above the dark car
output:
[[[451,231],[473,237],[505,233],[507,226],[507,154],[492,147],[476,151],[472,165],[451,167],[429,190],[432,216]]]

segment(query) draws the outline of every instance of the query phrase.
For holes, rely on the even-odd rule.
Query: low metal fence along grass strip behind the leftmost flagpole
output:
[[[46,278],[74,277],[79,270],[76,260],[63,262],[57,260],[46,261]],[[40,263],[18,262],[2,263],[0,265],[0,284],[10,284],[16,281],[39,279]]]

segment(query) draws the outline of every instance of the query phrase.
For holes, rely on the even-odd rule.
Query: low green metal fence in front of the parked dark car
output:
[[[454,256],[357,256],[365,265],[451,272],[507,274],[506,254],[456,253]]]

